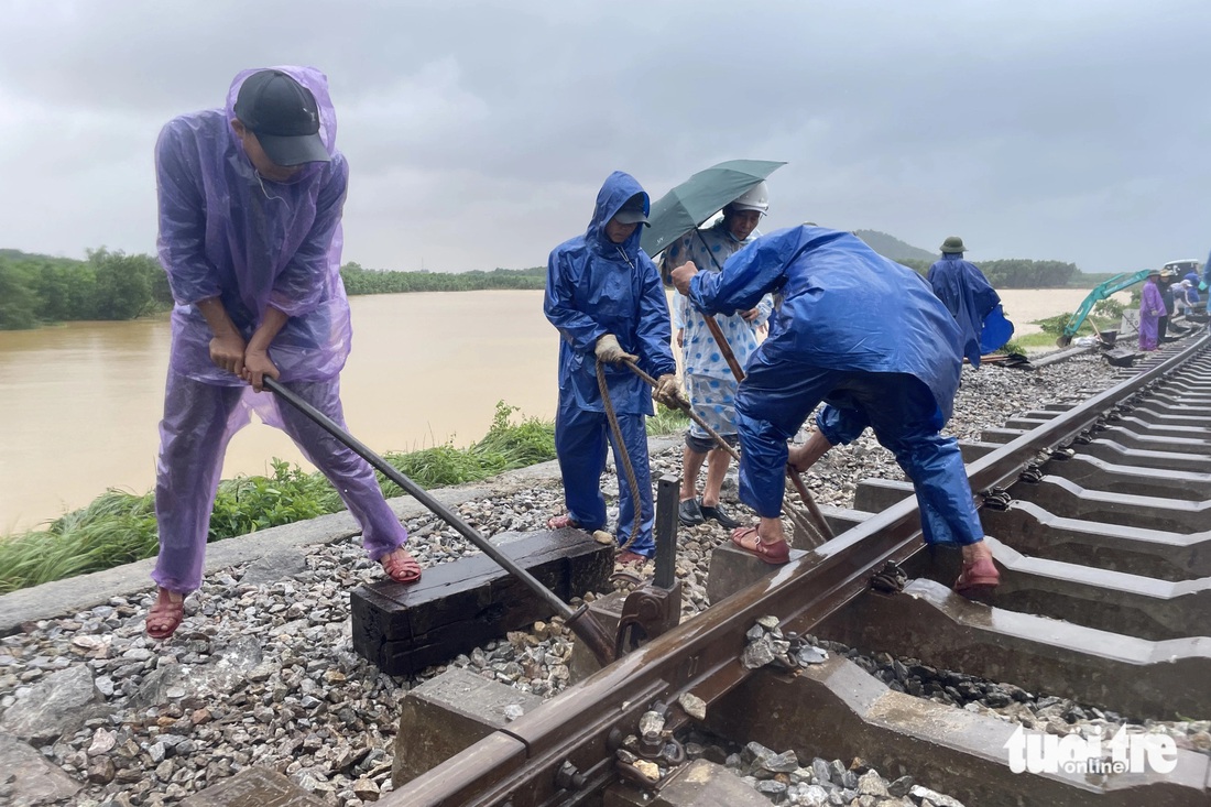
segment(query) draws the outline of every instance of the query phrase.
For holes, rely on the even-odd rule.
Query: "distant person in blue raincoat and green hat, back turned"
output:
[[[1014,324],[1005,319],[1000,294],[980,268],[963,259],[965,251],[959,236],[946,239],[942,259],[929,268],[926,280],[963,331],[963,355],[978,367],[980,356],[1009,342]]]

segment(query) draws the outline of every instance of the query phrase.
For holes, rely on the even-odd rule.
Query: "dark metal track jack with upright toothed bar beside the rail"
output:
[[[665,474],[656,482],[656,576],[631,591],[618,622],[615,657],[676,628],[681,622],[682,585],[677,579],[677,494],[679,480]]]

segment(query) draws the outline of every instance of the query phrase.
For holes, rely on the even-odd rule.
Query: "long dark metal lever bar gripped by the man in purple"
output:
[[[431,497],[423,487],[401,474],[390,463],[366,447],[365,443],[337,425],[335,422],[333,422],[327,414],[315,408],[269,376],[265,376],[264,385],[265,389],[271,390],[279,399],[297,408],[321,429],[351,448],[362,459],[381,471],[384,476],[390,479],[392,482],[412,494],[414,499],[429,508],[434,515],[454,527],[460,536],[478,546],[484,555],[500,563],[500,566],[503,566],[510,574],[533,589],[534,593],[543,597],[543,600],[546,601],[546,603],[550,605],[556,613],[563,617],[568,628],[570,628],[573,633],[575,633],[576,636],[585,642],[585,646],[592,652],[593,657],[597,658],[597,662],[602,666],[606,666],[614,660],[615,642],[610,641],[609,634],[604,628],[602,628],[601,623],[593,618],[592,613],[589,612],[587,603],[573,611],[572,606],[557,597],[551,589],[543,585],[543,583],[539,582],[539,579],[533,574],[515,563],[512,559],[501,553],[490,540],[472,530],[469,523],[458,516],[458,514]]]

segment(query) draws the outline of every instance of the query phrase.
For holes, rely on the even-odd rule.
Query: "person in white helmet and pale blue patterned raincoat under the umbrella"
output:
[[[769,211],[769,189],[757,183],[723,208],[723,218],[707,229],[695,229],[665,251],[665,270],[676,269],[687,261],[704,271],[722,271],[723,263],[742,246],[752,242],[761,217]],[[736,364],[744,368],[757,349],[754,326],[764,325],[774,309],[774,299],[765,296],[753,308],[730,316],[714,317]],[[716,343],[706,317],[689,305],[683,294],[673,298],[673,326],[677,344],[683,349],[685,390],[694,413],[719,434],[729,445],[736,445],[735,397],[736,380],[723,349]],[[698,497],[698,476],[706,464],[706,485]],[[681,503],[678,520],[687,526],[713,519],[728,530],[740,522],[733,519],[719,496],[731,457],[716,446],[707,431],[691,422],[685,430],[682,452]]]

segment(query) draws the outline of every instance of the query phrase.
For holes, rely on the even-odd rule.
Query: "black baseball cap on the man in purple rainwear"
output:
[[[328,162],[315,96],[281,70],[253,73],[240,85],[235,116],[281,166]]]

